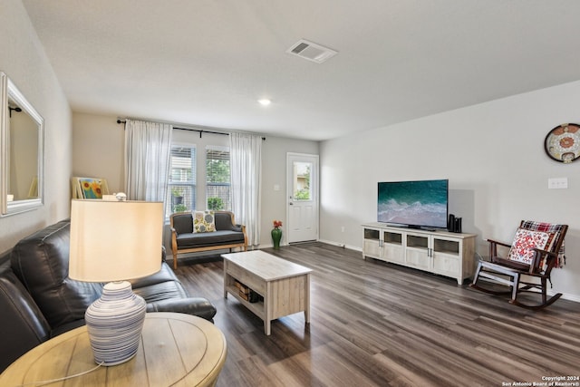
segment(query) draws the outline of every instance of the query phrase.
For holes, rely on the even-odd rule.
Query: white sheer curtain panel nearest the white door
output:
[[[260,243],[260,191],[262,185],[262,137],[233,132],[229,135],[232,212],[246,225],[247,243]]]

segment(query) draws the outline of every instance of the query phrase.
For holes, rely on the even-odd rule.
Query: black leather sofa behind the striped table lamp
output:
[[[45,227],[0,257],[0,372],[34,346],[84,324],[84,312],[104,284],[68,276],[70,221]],[[189,297],[160,252],[161,270],[131,280],[148,312],[194,314],[213,321],[207,299]]]

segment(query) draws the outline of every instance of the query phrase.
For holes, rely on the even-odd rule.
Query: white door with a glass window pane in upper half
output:
[[[288,153],[287,242],[318,240],[318,155]]]

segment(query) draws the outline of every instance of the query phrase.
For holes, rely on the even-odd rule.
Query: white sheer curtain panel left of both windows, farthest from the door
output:
[[[165,202],[172,129],[167,123],[125,122],[125,189],[128,199]]]

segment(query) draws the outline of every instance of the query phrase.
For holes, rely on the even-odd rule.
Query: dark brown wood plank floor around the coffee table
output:
[[[266,336],[260,319],[223,298],[222,262],[180,261],[176,271],[191,295],[218,308],[228,351],[220,387],[514,386],[580,376],[578,303],[531,311],[322,243],[265,251],[314,269],[311,324],[292,314]]]

